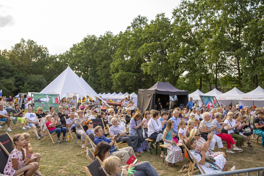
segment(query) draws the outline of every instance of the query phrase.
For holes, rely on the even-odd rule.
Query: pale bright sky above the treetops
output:
[[[1,0],[0,50],[24,40],[62,54],[87,35],[125,31],[138,15],[172,17],[180,0]]]

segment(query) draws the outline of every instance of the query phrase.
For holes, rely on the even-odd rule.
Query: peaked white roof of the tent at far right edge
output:
[[[248,93],[240,94],[240,100],[264,100],[264,89],[260,86]]]

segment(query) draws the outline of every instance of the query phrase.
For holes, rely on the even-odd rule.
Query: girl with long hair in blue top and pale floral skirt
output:
[[[167,122],[167,127],[164,130],[163,139],[162,139],[164,141],[165,146],[168,148],[168,155],[166,157],[166,162],[168,166],[172,166],[172,163],[175,164],[176,162],[183,160],[181,149],[172,140],[173,127],[174,127],[174,122],[172,120],[169,120]]]

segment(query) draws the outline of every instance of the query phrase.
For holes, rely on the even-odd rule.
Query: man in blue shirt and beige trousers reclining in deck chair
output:
[[[117,156],[118,158],[120,158],[122,163],[123,163],[123,166],[127,165],[126,162],[129,160],[129,158],[132,155],[134,157],[136,157],[132,147],[125,147],[125,148],[121,148],[119,150],[117,148],[115,148],[114,143],[115,143],[115,137],[117,135],[114,135],[112,137],[112,140],[106,138],[103,134],[104,133],[103,129],[100,126],[95,127],[94,133],[95,133],[94,141],[93,141],[94,144],[97,145],[99,142],[103,141],[103,142],[106,142],[106,143],[109,143],[110,145],[112,145],[110,148],[110,155],[109,156]]]

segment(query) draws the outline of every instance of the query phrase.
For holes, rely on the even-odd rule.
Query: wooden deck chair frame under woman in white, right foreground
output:
[[[194,157],[191,154],[191,152],[189,151],[189,149],[186,147],[184,140],[182,140],[182,145],[184,146],[184,148],[187,151],[188,157],[190,159],[190,164],[189,164],[189,168],[188,169],[183,170],[184,167],[186,167],[186,165],[184,165],[178,173],[182,173],[182,172],[186,172],[187,171],[187,174],[185,174],[183,176],[193,176],[195,173],[198,173],[198,172],[200,172],[201,174],[205,174],[205,172],[204,172],[203,168],[201,167],[201,165],[196,161],[196,159],[193,159]],[[201,168],[201,170],[196,165],[199,166]],[[195,167],[198,170],[195,170]]]

